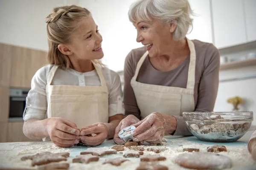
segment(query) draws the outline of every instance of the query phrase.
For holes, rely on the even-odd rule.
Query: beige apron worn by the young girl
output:
[[[93,65],[101,86],[51,85],[58,69],[56,65],[52,67],[46,86],[48,118],[62,117],[74,122],[78,128],[97,122],[108,123],[108,88],[101,68]]]

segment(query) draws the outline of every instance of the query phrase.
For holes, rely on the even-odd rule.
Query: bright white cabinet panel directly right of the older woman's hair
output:
[[[213,43],[210,0],[189,0],[193,16],[193,29],[187,34],[190,40]]]

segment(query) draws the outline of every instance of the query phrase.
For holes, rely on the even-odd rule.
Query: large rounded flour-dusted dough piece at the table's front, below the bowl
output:
[[[222,170],[232,167],[229,157],[216,153],[182,153],[176,157],[175,162],[181,167],[197,170]]]

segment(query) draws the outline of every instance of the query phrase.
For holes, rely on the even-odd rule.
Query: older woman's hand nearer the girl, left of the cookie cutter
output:
[[[122,119],[121,122],[119,123],[119,125],[116,127],[115,135],[114,135],[114,142],[116,144],[124,144],[125,141],[119,138],[118,133],[123,128],[131,126],[139,121],[140,120],[137,117],[135,117],[134,115],[128,115],[127,117],[125,117],[125,119]]]

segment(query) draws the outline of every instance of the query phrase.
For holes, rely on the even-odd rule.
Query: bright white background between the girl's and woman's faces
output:
[[[79,5],[89,9],[102,34],[103,62],[114,71],[124,68],[126,55],[136,42],[137,31],[128,19],[128,9],[134,0],[80,0]]]

